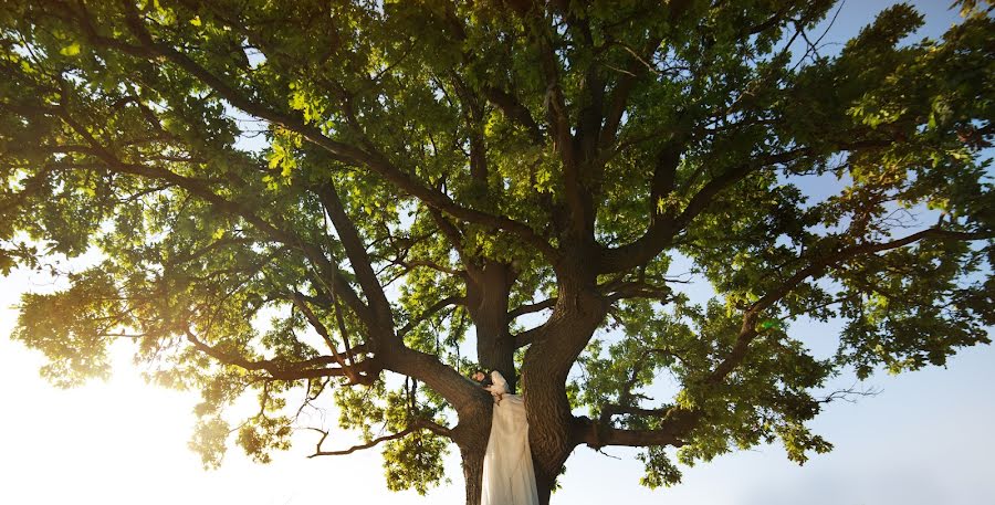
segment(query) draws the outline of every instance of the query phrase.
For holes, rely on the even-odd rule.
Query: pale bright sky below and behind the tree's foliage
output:
[[[921,0],[928,25],[939,36],[956,21],[951,0]],[[889,1],[849,0],[824,42],[856,33]],[[831,46],[827,51],[835,52]],[[811,188],[815,191],[815,188]],[[0,278],[0,503],[239,503],[283,505],[364,499],[364,503],[462,503],[458,454],[448,459],[450,484],[427,497],[390,493],[377,451],[308,460],[314,433],[295,435],[294,448],[269,465],[250,462],[238,448],[217,471],[201,470],[187,449],[196,392],[147,386],[130,364],[126,341],[115,347],[114,375],[72,390],[57,390],[38,375],[43,359],[7,338],[25,290],[52,286],[40,275],[15,272]],[[698,287],[701,290],[702,287]],[[701,293],[699,293],[701,294]],[[797,326],[813,347],[836,341],[832,325]],[[793,333],[795,333],[793,332]],[[687,503],[694,505],[975,505],[995,496],[995,349],[963,350],[947,369],[932,367],[899,377],[878,375],[863,387],[879,389],[857,403],[830,404],[813,423],[836,449],[804,467],[778,445],[758,446],[684,470],[673,488],[638,485],[633,451],[608,455],[578,448],[567,462],[554,504]],[[844,379],[845,381],[849,379]],[[841,382],[844,387],[851,382]],[[337,413],[328,411],[328,419]],[[326,449],[352,445],[331,436]]]

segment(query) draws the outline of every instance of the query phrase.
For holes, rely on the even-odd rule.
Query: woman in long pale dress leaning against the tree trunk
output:
[[[507,392],[507,381],[496,370],[491,379],[494,383],[486,390],[494,396],[494,413],[484,455],[481,505],[538,505],[525,401]]]

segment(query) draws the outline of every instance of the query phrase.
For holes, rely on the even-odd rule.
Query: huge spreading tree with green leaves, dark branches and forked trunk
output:
[[[995,30],[959,6],[826,55],[827,0],[6,1],[0,270],[101,256],[14,338],[60,386],[134,339],[202,391],[209,465],[332,397],[364,440],[316,454],[425,492],[454,444],[476,503],[475,367],[524,393],[546,502],[582,444],[643,448],[651,487],[671,448],[803,463],[830,378],[989,341]],[[844,322],[834,356],[800,318]]]

